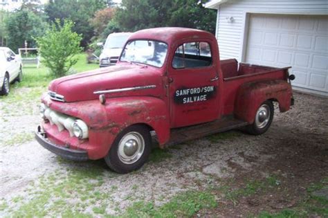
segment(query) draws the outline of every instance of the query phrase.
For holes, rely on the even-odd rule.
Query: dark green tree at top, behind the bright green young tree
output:
[[[82,34],[81,46],[86,47],[93,37],[93,27],[90,19],[95,12],[105,8],[107,1],[104,0],[51,0],[45,7],[49,21],[70,19],[74,22],[73,31]]]

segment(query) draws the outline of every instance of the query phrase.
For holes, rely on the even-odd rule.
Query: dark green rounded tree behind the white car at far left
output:
[[[13,50],[24,47],[24,42],[29,47],[35,47],[35,37],[42,36],[48,24],[41,17],[29,10],[21,9],[13,12],[5,20],[7,44]]]

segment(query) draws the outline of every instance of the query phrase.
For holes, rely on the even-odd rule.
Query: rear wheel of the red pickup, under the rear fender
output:
[[[252,135],[260,135],[264,134],[268,127],[270,127],[271,122],[273,120],[273,103],[271,101],[266,100],[259,106],[255,113],[255,119],[253,124],[248,125],[246,127],[246,131]]]

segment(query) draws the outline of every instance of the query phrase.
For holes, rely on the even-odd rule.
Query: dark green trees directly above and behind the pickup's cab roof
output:
[[[216,11],[195,0],[122,0],[114,19],[125,31],[161,26],[198,28],[215,32]]]

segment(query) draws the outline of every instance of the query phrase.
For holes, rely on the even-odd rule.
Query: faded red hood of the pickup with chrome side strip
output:
[[[127,90],[133,87],[151,89]],[[119,96],[159,96],[161,76],[159,69],[136,64],[118,64],[94,71],[69,75],[53,80],[48,90],[52,95],[64,98],[65,102],[94,100],[99,98],[96,91],[116,91],[105,93],[107,98]],[[119,91],[119,89],[125,89]]]

